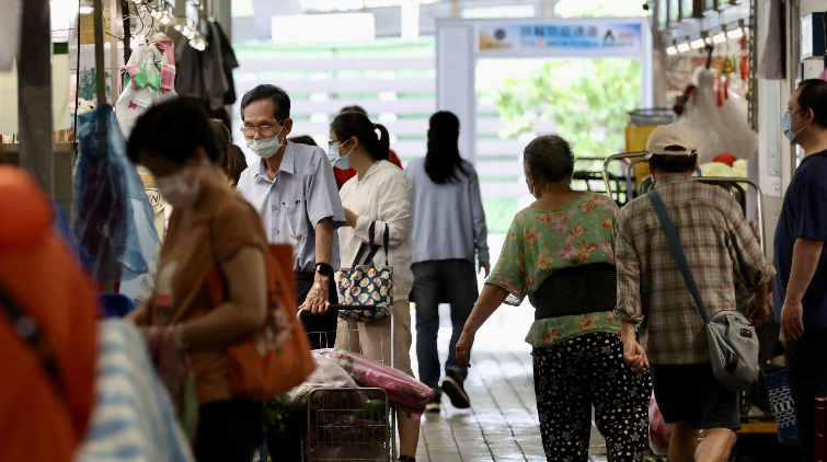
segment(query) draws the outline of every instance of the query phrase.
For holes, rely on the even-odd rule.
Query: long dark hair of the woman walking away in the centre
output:
[[[428,152],[425,154],[425,173],[436,184],[459,180],[457,170],[468,175],[459,154],[459,118],[440,111],[428,120]]]

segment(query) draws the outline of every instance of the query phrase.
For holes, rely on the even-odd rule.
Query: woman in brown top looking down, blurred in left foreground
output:
[[[264,324],[267,244],[261,220],[227,186],[207,117],[185,100],[150,108],[135,126],[127,154],[152,172],[173,207],[156,292],[130,319],[142,327],[185,429],[195,413],[182,409],[197,405],[196,459],[248,462],[261,443],[263,405],[231,390],[227,350]],[[218,305],[205,284],[216,267],[227,292]],[[195,396],[187,386],[191,370]]]

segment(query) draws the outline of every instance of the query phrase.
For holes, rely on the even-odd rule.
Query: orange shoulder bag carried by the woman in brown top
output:
[[[313,372],[310,342],[296,313],[292,247],[271,245],[267,266],[267,316],[257,332],[227,347],[227,368],[232,394],[265,401],[292,389]],[[227,300],[227,282],[220,267],[205,277],[213,307]]]

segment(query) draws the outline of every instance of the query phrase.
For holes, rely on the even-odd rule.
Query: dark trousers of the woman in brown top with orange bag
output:
[[[262,403],[236,399],[200,406],[195,459],[198,462],[250,462],[262,442],[263,424]]]

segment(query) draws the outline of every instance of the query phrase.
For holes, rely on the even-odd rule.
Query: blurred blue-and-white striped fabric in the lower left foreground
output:
[[[77,461],[195,461],[140,333],[117,319],[97,333],[96,404]]]

